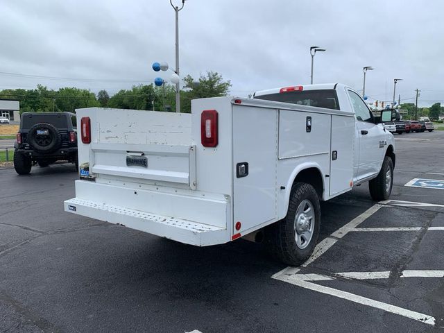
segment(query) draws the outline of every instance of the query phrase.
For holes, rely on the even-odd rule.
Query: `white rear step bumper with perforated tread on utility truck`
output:
[[[214,225],[97,203],[91,200],[79,198],[65,200],[65,211],[124,225],[185,244],[209,246],[230,241],[228,230]]]

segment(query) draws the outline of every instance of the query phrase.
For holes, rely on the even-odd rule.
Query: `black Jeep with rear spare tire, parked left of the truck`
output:
[[[24,112],[14,144],[14,168],[19,175],[31,172],[39,164],[47,167],[58,160],[76,164],[76,114],[71,112]]]

